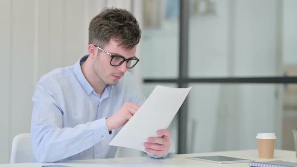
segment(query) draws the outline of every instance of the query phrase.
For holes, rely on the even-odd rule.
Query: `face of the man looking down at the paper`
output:
[[[110,39],[109,43],[101,48],[112,55],[120,55],[127,58],[131,58],[135,56],[136,53],[136,46],[132,49],[125,49],[122,46],[118,46],[120,41],[114,41]],[[97,55],[93,59],[92,68],[95,74],[101,79],[106,85],[116,85],[119,79],[125,74],[127,71],[125,61],[119,66],[112,66],[110,65],[111,57],[106,54],[105,52],[97,49]]]

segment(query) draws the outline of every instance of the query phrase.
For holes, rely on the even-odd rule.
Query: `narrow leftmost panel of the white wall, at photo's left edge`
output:
[[[11,103],[11,1],[0,1],[0,23],[1,23],[1,31],[0,31],[0,57],[2,59],[2,65],[0,65],[1,71],[1,84],[0,84],[0,114],[1,114],[1,121],[0,121],[0,163],[6,162],[9,158],[8,151],[9,151],[9,144],[10,144],[10,137],[8,131],[10,129],[10,103]],[[5,39],[5,40],[2,40]]]

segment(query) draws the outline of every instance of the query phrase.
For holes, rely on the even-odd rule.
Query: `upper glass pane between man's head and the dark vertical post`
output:
[[[179,1],[143,1],[141,73],[143,77],[176,78],[179,54]]]

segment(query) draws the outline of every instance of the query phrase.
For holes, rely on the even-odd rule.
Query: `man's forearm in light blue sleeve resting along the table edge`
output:
[[[80,153],[109,135],[105,118],[74,128],[36,125],[31,129],[34,155],[39,162],[55,162]]]

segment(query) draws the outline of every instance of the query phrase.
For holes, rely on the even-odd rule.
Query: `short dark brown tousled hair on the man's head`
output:
[[[111,38],[120,41],[126,49],[139,43],[140,28],[135,17],[125,9],[105,8],[89,26],[89,44],[104,47]]]

